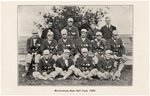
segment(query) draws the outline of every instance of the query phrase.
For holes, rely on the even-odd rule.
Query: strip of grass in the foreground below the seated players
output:
[[[91,80],[76,80],[73,76],[70,76],[68,79],[59,81],[54,79],[53,81],[44,81],[44,80],[35,80],[34,78],[22,77],[24,73],[24,67],[18,65],[18,85],[20,86],[131,86],[132,85],[132,65],[126,65],[122,71],[120,81],[111,81],[111,80],[99,80],[95,77]]]

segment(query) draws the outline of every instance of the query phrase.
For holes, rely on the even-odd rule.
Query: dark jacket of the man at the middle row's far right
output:
[[[120,38],[116,40],[113,38],[109,39],[107,42],[107,48],[119,57],[125,54],[125,46]]]

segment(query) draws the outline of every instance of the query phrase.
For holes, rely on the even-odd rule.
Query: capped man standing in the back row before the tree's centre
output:
[[[73,25],[73,18],[68,18],[68,25],[64,28],[68,32],[68,37],[75,40],[79,37],[78,28]]]

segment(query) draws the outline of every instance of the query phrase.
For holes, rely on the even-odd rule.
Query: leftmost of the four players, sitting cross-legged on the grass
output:
[[[36,79],[53,80],[57,76],[55,71],[55,60],[49,50],[43,51],[43,57],[40,59],[38,70],[33,72]]]

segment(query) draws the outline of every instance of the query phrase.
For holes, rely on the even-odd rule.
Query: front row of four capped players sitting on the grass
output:
[[[93,76],[97,76],[100,79],[119,80],[120,74],[118,73],[121,73],[122,70],[119,68],[120,65],[115,65],[112,54],[112,51],[106,50],[104,56],[95,64],[88,56],[87,48],[82,48],[81,55],[74,64],[69,57],[68,49],[64,50],[62,57],[58,58],[56,62],[49,50],[44,50],[38,70],[33,71],[32,75],[36,79],[43,80],[53,80],[58,75],[62,76],[59,80],[65,80],[72,74],[79,79],[92,80]]]

